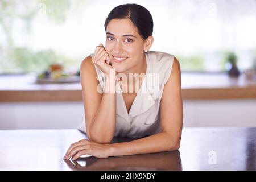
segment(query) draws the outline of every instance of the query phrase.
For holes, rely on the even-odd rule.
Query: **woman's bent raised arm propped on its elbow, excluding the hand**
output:
[[[99,93],[97,90],[99,84],[97,73],[90,56],[86,57],[82,62],[80,73],[86,118],[86,134],[94,142],[109,143],[114,137],[115,130],[115,78],[106,77],[105,91],[112,89],[112,93]]]

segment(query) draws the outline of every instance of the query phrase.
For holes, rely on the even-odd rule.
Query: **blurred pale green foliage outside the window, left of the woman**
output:
[[[20,11],[19,6],[26,7],[26,11]],[[44,9],[43,6],[47,8]],[[24,1],[23,3],[15,0],[0,0],[0,28],[6,37],[6,44],[4,46],[0,44],[0,50],[3,49],[2,46],[6,52],[5,55],[0,55],[0,73],[39,73],[51,63],[61,63],[64,67],[72,65],[73,59],[59,55],[52,49],[33,51],[29,47],[16,47],[11,35],[15,19],[21,19],[26,24],[27,31],[30,32],[31,20],[43,10],[46,12],[41,13],[45,13],[49,20],[54,23],[64,23],[69,6],[69,0]]]

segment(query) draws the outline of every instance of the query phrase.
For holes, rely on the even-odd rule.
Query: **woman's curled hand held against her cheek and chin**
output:
[[[102,44],[96,46],[92,61],[94,64],[97,65],[98,68],[101,69],[103,73],[110,75],[110,69],[113,68],[110,64],[110,57],[108,55],[108,52],[106,52]]]

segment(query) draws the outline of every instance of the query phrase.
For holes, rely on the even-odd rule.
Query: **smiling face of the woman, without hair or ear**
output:
[[[117,73],[129,71],[143,61],[144,44],[130,19],[112,19],[108,23],[105,49]]]

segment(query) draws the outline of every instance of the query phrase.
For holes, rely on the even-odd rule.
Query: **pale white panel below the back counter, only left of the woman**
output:
[[[82,102],[1,103],[0,129],[73,129],[83,113]]]

